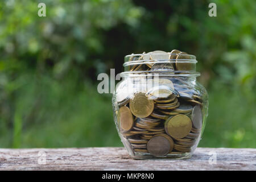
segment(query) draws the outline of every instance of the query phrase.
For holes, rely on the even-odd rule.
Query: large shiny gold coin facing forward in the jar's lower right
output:
[[[170,117],[164,123],[166,133],[173,138],[184,138],[192,129],[192,122],[187,115],[178,114],[174,117]]]

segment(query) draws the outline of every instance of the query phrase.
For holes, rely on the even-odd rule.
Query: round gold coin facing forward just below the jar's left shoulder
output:
[[[131,113],[138,118],[146,118],[154,110],[154,101],[148,100],[144,93],[137,93],[130,100]]]

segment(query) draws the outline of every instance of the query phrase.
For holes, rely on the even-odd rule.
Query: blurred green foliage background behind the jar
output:
[[[179,49],[209,93],[199,146],[255,148],[255,12],[253,0],[2,0],[0,147],[122,146],[97,75],[122,72],[130,53]]]

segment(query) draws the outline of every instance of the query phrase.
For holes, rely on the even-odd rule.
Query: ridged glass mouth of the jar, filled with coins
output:
[[[149,52],[126,55],[125,63],[123,63],[125,72],[179,74],[180,76],[200,75],[196,72],[196,56],[185,52],[158,52],[160,53]]]

